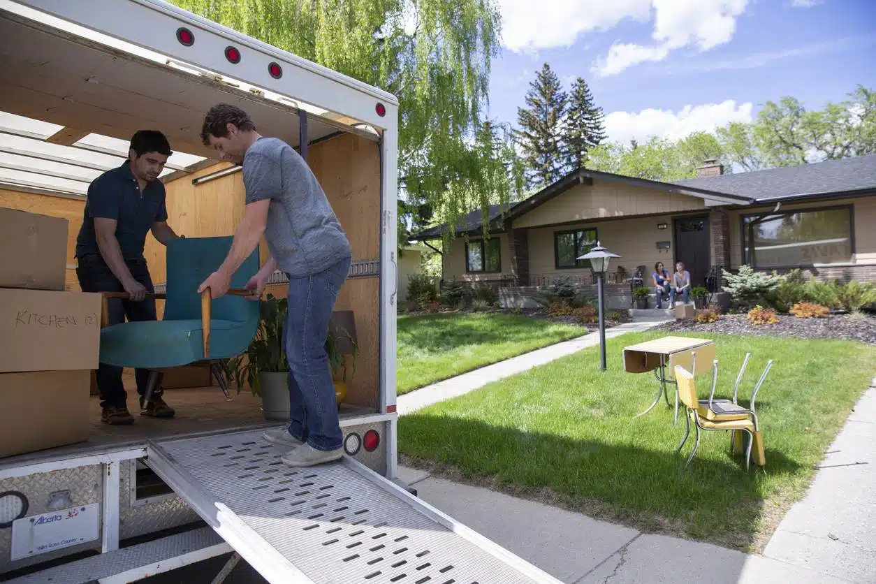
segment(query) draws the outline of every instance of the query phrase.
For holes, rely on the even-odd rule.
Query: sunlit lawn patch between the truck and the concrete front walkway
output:
[[[582,327],[516,314],[399,316],[399,395],[587,334]]]

